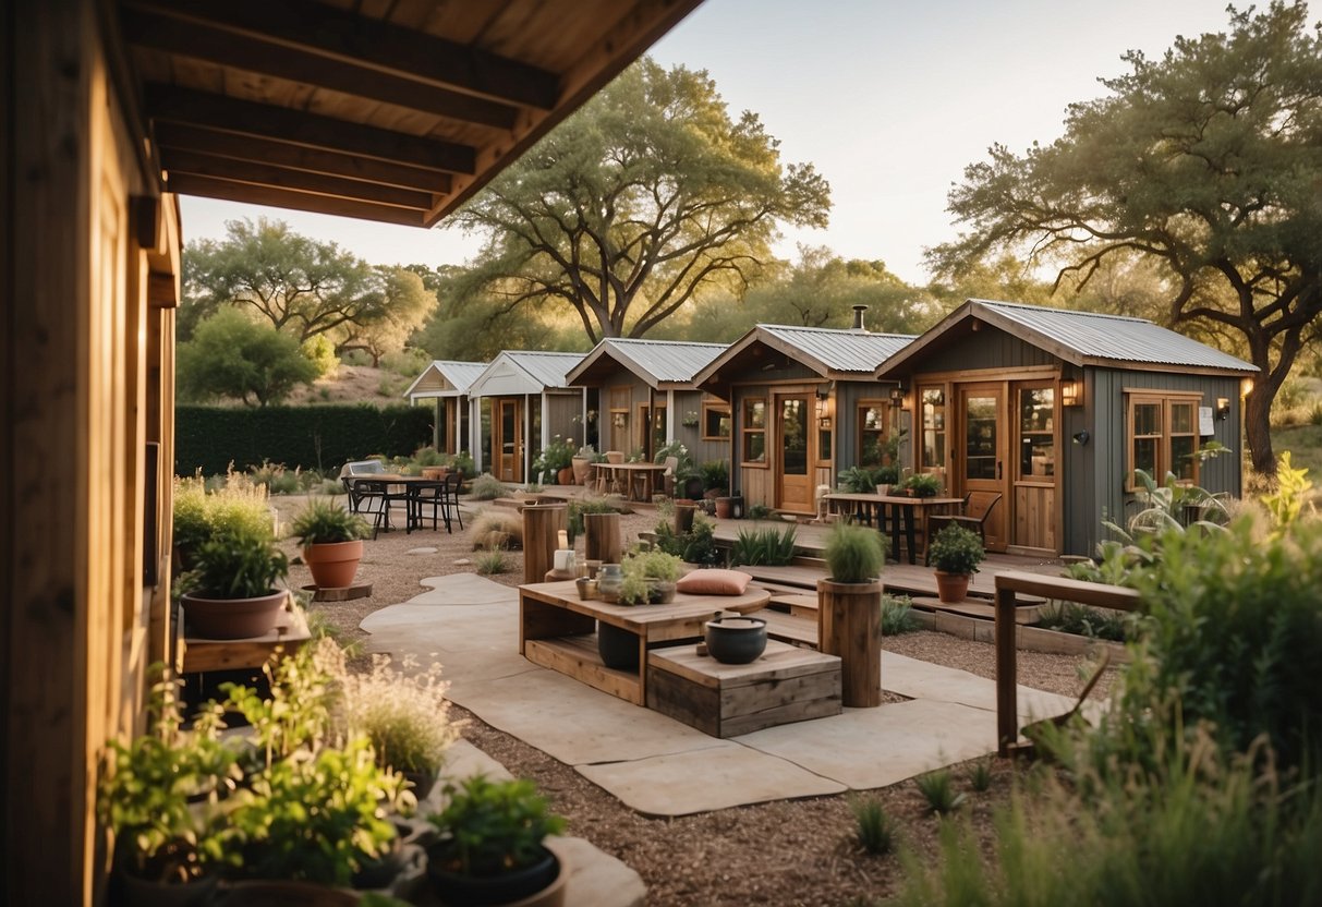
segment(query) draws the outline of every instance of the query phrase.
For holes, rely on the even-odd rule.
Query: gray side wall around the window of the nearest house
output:
[[[1218,440],[1233,454],[1207,460],[1199,467],[1199,484],[1210,492],[1243,491],[1240,468],[1241,406],[1240,379],[1170,372],[1121,369],[1087,369],[1084,373],[1084,406],[1064,410],[1066,450],[1064,545],[1066,554],[1095,554],[1097,542],[1107,537],[1103,520],[1124,525],[1126,501],[1133,494],[1125,489],[1129,454],[1125,450],[1125,387],[1202,393],[1200,406],[1215,409],[1216,398],[1231,401],[1228,419],[1212,420],[1215,434],[1200,443]],[[1073,435],[1087,428],[1087,446],[1072,443]]]

